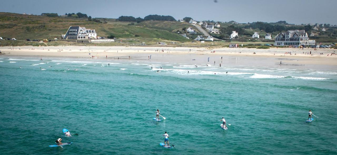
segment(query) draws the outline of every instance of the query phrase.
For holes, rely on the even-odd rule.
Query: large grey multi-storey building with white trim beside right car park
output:
[[[308,33],[305,30],[288,30],[275,37],[274,45],[315,45],[315,43],[315,40],[309,40]]]

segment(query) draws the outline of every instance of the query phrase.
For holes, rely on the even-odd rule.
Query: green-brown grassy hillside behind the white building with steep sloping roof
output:
[[[60,38],[62,34],[65,34],[69,26],[81,26],[95,29],[97,36],[106,37],[113,33],[122,40],[133,38],[133,42],[190,41],[177,33],[172,33],[174,29],[182,28],[179,22],[172,22],[172,27],[163,26],[166,28],[160,28],[160,26],[156,26],[158,21],[147,21],[146,26],[142,26],[141,23],[128,25],[131,22],[118,22],[114,19],[108,19],[107,21],[108,23],[103,24],[79,18],[44,17],[0,12],[0,36],[3,38],[14,37],[18,40],[26,40],[27,38],[31,40],[53,39]],[[140,37],[135,37],[135,35]]]

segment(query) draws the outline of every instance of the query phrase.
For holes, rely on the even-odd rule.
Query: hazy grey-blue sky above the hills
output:
[[[247,22],[286,21],[292,24],[337,24],[337,0],[1,0],[0,12],[40,15],[82,12],[118,18],[170,15],[175,19]]]

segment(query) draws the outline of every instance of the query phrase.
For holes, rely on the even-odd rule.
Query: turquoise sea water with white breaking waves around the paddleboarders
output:
[[[3,154],[337,154],[336,70],[0,57],[0,79]]]

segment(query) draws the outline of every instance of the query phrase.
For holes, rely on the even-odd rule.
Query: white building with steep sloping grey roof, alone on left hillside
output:
[[[95,30],[86,29],[80,26],[70,26],[67,33],[64,35],[63,39],[93,39],[96,38],[97,33]]]

